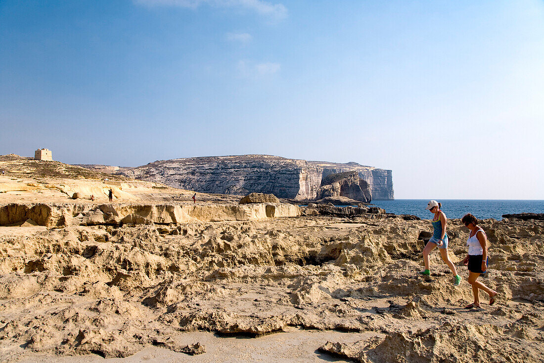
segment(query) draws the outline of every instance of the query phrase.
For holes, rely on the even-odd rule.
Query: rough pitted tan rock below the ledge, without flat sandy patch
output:
[[[492,243],[483,281],[500,295],[472,311],[462,308],[472,292],[459,221],[448,229],[459,287],[437,253],[434,275],[417,275],[428,221],[353,222],[0,227],[0,354],[126,357],[149,346],[180,352],[184,332],[258,339],[290,328],[351,332],[315,349],[355,361],[544,354],[542,222],[483,223]]]

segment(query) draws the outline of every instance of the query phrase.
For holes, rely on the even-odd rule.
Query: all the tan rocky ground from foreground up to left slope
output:
[[[119,191],[133,199],[74,200],[59,185],[83,194],[103,181],[31,183],[14,176],[11,162],[0,161],[9,170],[0,177],[0,361],[544,356],[542,220],[481,222],[490,239],[490,271],[481,279],[499,295],[489,306],[482,294],[482,308],[466,310],[468,231],[459,220],[448,221],[450,258],[463,277],[454,286],[437,251],[431,277],[417,274],[429,221],[372,206],[273,216],[266,206],[285,203],[271,197],[237,204],[199,193],[191,205],[191,191],[129,187],[142,183],[129,179]]]

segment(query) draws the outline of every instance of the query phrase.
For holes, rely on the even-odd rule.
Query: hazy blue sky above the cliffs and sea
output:
[[[543,1],[0,1],[0,154],[271,154],[544,199]]]

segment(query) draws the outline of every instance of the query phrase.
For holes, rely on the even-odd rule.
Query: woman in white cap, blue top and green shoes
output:
[[[425,263],[425,270],[421,271],[420,274],[425,276],[431,275],[431,271],[429,270],[429,253],[431,253],[431,251],[434,250],[436,246],[438,246],[438,250],[440,251],[442,260],[446,262],[449,269],[452,270],[452,273],[455,276],[454,285],[458,286],[461,283],[461,276],[457,274],[455,265],[448,256],[448,235],[446,234],[447,218],[446,214],[444,214],[444,212],[440,210],[441,207],[441,203],[438,203],[437,201],[430,201],[425,208],[435,215],[432,219],[432,228],[434,229],[434,233],[432,234],[431,239],[423,249],[423,261]]]

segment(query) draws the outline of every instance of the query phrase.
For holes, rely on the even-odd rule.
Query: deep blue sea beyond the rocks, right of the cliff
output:
[[[544,201],[527,200],[478,200],[478,199],[441,199],[442,211],[448,218],[461,218],[472,213],[478,219],[494,218],[501,220],[503,214],[544,213]],[[432,219],[432,213],[425,207],[428,199],[394,199],[393,201],[372,201],[387,213],[412,214],[422,219]]]

